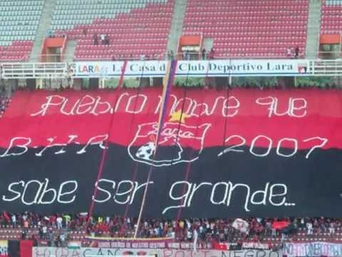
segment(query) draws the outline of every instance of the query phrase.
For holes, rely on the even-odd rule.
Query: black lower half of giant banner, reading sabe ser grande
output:
[[[1,157],[1,211],[88,211],[103,150],[89,146],[77,154],[80,148],[70,145],[61,154],[55,154],[61,148],[49,148],[41,157],[35,154],[42,148],[30,148],[19,156]],[[305,158],[307,151],[298,151],[286,158],[275,149],[264,157],[240,149],[244,153],[222,156],[222,148],[205,148],[198,156],[184,149],[180,161],[198,157],[187,181],[187,163],[153,167],[144,217],[175,218],[182,197],[182,217],[341,216],[341,151],[316,149],[310,158]],[[170,148],[170,156],[174,152]],[[265,152],[254,149],[257,154]],[[135,168],[137,182],[132,182]],[[128,148],[110,145],[96,196],[102,202],[95,203],[95,213],[123,215],[130,204],[128,216],[138,216],[149,169],[133,161]]]

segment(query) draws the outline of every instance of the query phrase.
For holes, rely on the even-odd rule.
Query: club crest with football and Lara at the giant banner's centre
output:
[[[157,147],[157,122],[140,124],[128,146],[128,154],[134,161],[157,167],[196,161],[203,150],[205,135],[210,126],[211,124],[188,126],[178,122],[165,122]],[[185,151],[185,148],[195,151]]]

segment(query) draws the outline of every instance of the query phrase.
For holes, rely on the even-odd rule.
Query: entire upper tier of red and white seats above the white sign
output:
[[[76,61],[134,59],[142,55],[162,58],[167,51],[175,51],[171,41],[178,40],[177,34],[201,35],[217,58],[286,58],[289,49],[296,47],[299,57],[304,58],[310,26],[314,26],[311,22],[316,19],[314,14],[310,15],[310,8],[316,8],[311,1],[317,2],[0,1],[0,61],[32,61],[33,54],[40,54],[42,39],[55,35],[75,41]],[[320,1],[318,35],[341,34],[342,0]],[[108,39],[105,43],[104,36]],[[33,46],[38,53],[32,52]]]

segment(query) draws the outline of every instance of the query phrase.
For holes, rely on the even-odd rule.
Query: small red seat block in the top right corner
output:
[[[342,0],[323,0],[321,34],[342,33]]]

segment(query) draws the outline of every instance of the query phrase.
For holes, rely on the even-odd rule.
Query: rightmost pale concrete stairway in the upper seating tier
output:
[[[321,0],[309,0],[308,31],[305,51],[307,59],[316,59],[318,56],[321,8]]]

